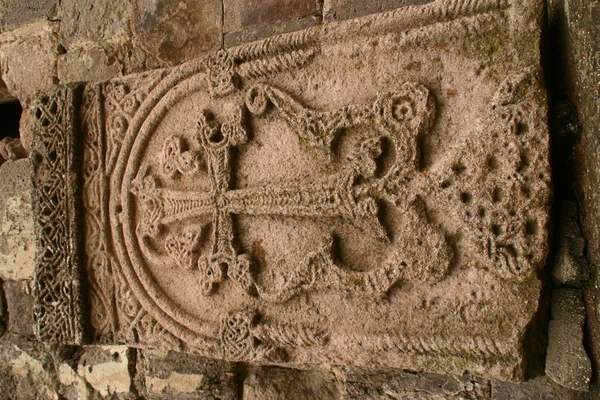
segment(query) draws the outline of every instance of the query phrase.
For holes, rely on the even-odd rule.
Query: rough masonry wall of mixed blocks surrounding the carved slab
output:
[[[16,98],[28,109],[36,93],[58,84],[177,66],[280,33],[427,2],[7,0],[0,3],[0,99]],[[600,6],[578,0],[548,3],[543,67],[550,93],[551,135],[557,144],[552,154],[557,194],[551,265],[541,302],[542,308],[549,306],[547,318],[540,321],[548,339],[545,371],[532,373],[526,382],[509,383],[468,373],[451,376],[333,365],[283,368],[167,350],[40,342],[33,328],[32,172],[25,159],[31,134],[29,114],[24,112],[21,142],[0,142],[0,398],[597,396],[600,38],[594,22],[598,18],[593,16],[600,18]],[[565,49],[571,58],[557,63]]]

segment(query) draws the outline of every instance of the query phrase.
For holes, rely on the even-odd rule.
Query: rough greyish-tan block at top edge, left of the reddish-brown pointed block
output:
[[[130,38],[130,8],[126,0],[62,0],[58,16],[60,43],[67,51]]]

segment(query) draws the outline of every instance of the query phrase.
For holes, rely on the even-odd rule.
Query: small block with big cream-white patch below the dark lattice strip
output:
[[[127,394],[132,383],[129,373],[130,351],[126,346],[85,347],[77,365],[77,375],[102,397]],[[69,381],[67,372],[63,371],[61,379],[65,382]],[[73,383],[76,382],[74,378]]]

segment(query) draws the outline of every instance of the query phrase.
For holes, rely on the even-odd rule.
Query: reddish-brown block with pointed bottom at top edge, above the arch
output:
[[[220,0],[135,0],[131,14],[134,43],[169,65],[221,46]]]

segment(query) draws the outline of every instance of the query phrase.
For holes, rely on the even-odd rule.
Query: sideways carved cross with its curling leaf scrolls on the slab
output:
[[[298,266],[296,274],[276,293],[267,293],[255,282],[252,261],[235,247],[232,214],[279,215],[302,218],[344,218],[356,226],[387,240],[377,218],[377,197],[385,196],[398,203],[394,185],[417,168],[417,136],[432,122],[434,106],[427,89],[405,84],[397,92],[379,96],[367,107],[349,106],[333,112],[316,112],[304,108],[282,91],[257,85],[247,91],[245,106],[238,106],[228,122],[220,124],[209,110],[203,110],[195,134],[202,152],[183,150],[183,139],[167,138],[162,151],[162,171],[169,177],[201,172],[205,159],[212,188],[209,192],[182,192],[159,187],[157,178],[146,175],[133,182],[142,220],[138,233],[156,237],[161,228],[182,220],[212,217],[212,250],[197,256],[201,230],[192,229],[179,237],[170,236],[166,251],[183,268],[198,268],[203,275],[203,292],[208,295],[215,285],[228,276],[250,294],[282,301],[298,291],[321,284],[338,286],[370,296],[384,295],[401,277],[400,265],[386,265],[367,273],[347,273],[335,265],[331,245],[310,254]],[[231,149],[248,141],[247,110],[263,115],[272,105],[310,147],[320,148],[332,156],[332,141],[343,129],[369,125],[382,130],[400,153],[392,168],[376,177],[376,159],[382,153],[381,137],[361,141],[349,166],[341,172],[316,182],[291,182],[277,186],[234,189],[231,186]]]

